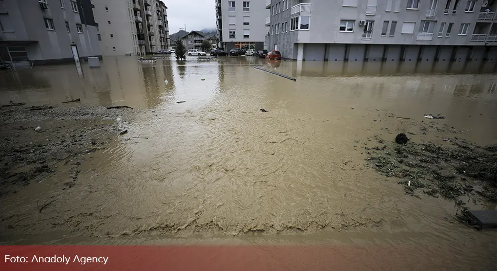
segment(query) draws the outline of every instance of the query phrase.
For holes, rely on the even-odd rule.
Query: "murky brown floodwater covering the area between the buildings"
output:
[[[495,267],[495,231],[454,222],[453,202],[405,195],[398,180],[364,166],[361,148],[406,130],[416,142],[457,135],[495,144],[495,63],[117,57],[101,64],[0,74],[3,101],[80,98],[143,109],[127,135],[81,165],[73,189],[61,192],[55,184],[65,176],[55,175],[0,199],[8,216],[32,208],[34,193],[59,198],[56,212],[19,218],[32,237],[12,237],[17,242],[408,246],[447,269]],[[457,134],[424,135],[427,122]]]

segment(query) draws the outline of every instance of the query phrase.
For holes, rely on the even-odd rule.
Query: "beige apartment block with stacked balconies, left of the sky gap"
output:
[[[145,55],[170,48],[168,7],[159,0],[98,0],[103,55]]]

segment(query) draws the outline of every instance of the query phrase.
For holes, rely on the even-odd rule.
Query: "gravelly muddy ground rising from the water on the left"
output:
[[[0,196],[41,183],[57,174],[60,165],[68,164],[70,178],[60,189],[72,188],[78,166],[126,130],[124,120],[129,120],[131,111],[74,104],[0,107]]]

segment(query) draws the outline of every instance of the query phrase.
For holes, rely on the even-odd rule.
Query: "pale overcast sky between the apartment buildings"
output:
[[[168,7],[169,33],[216,28],[216,0],[162,0]]]

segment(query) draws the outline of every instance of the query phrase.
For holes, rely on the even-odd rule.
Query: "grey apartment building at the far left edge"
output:
[[[0,61],[101,57],[97,26],[90,0],[0,1]]]

